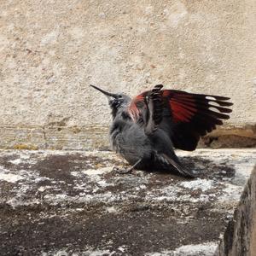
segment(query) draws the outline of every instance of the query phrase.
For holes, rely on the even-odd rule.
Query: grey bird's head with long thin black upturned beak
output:
[[[113,118],[115,117],[116,113],[120,108],[125,108],[129,104],[129,102],[131,102],[131,98],[129,96],[126,96],[123,93],[114,94],[114,93],[110,93],[108,91],[102,90],[95,85],[90,84],[90,86],[96,90],[101,91],[105,96],[108,97],[108,104],[112,109]]]

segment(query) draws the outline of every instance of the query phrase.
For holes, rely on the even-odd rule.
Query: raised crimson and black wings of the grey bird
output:
[[[131,119],[154,127],[160,125],[172,139],[175,148],[195,150],[200,137],[223,125],[223,119],[229,119],[233,103],[229,97],[193,94],[182,90],[160,90],[156,85],[157,101],[154,89],[135,97],[129,107]],[[154,113],[151,112],[155,111]],[[149,118],[151,117],[151,119]]]

